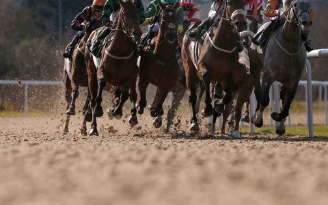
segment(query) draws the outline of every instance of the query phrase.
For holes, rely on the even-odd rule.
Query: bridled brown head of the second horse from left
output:
[[[116,29],[122,29],[133,42],[138,42],[141,38],[139,10],[130,0],[118,0],[121,5],[120,16]]]

